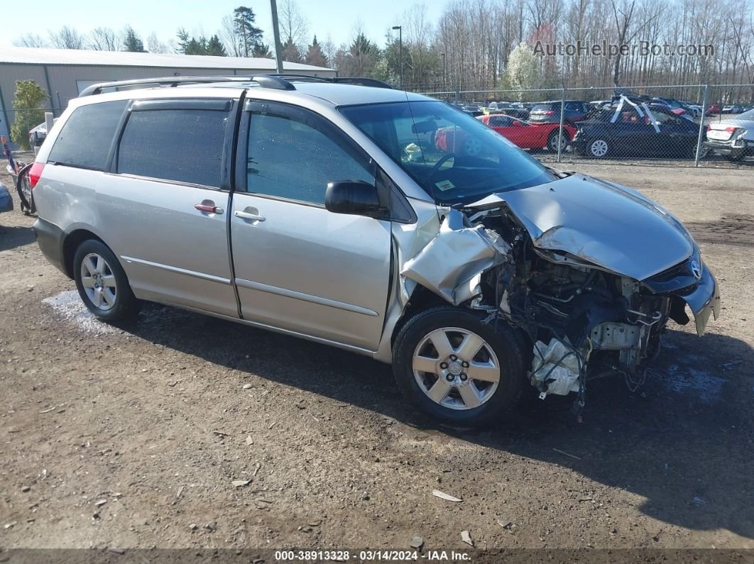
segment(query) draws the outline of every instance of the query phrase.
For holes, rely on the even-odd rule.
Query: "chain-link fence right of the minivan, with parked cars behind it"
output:
[[[754,86],[691,84],[424,92],[540,160],[700,166],[754,157]]]

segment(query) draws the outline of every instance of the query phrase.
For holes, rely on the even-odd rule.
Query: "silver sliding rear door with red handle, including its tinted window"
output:
[[[148,100],[128,109],[97,209],[136,297],[238,317],[225,158],[235,103]]]

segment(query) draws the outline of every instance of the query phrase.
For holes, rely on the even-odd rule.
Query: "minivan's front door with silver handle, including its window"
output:
[[[375,182],[375,165],[333,123],[280,102],[247,102],[231,242],[244,319],[376,350],[391,269],[391,223],[328,212],[326,184]]]

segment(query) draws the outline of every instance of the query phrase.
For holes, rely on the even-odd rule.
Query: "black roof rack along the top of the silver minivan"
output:
[[[112,88],[118,90],[131,90],[137,88],[147,88],[150,86],[158,87],[177,87],[182,84],[212,84],[216,82],[256,82],[262,88],[274,88],[275,90],[296,90],[296,87],[290,81],[310,81],[310,82],[329,82],[330,84],[360,84],[361,86],[371,86],[376,88],[392,88],[390,84],[378,81],[376,78],[360,77],[335,77],[328,78],[312,75],[223,75],[223,76],[166,76],[156,78],[138,78],[130,81],[112,81],[92,84],[81,90],[78,95],[94,96],[103,93],[103,90]]]

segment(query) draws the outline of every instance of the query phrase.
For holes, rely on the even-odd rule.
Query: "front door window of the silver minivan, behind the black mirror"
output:
[[[255,111],[249,130],[248,191],[324,204],[328,182],[363,180],[368,172],[341,145],[333,131],[314,115],[285,109]],[[406,122],[410,132],[411,122]]]

